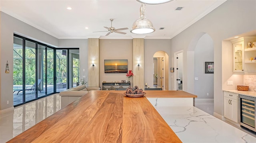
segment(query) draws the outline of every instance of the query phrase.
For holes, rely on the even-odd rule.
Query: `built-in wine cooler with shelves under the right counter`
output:
[[[255,102],[256,98],[240,95],[239,102],[239,116],[238,121],[242,127],[256,132],[255,122]]]

